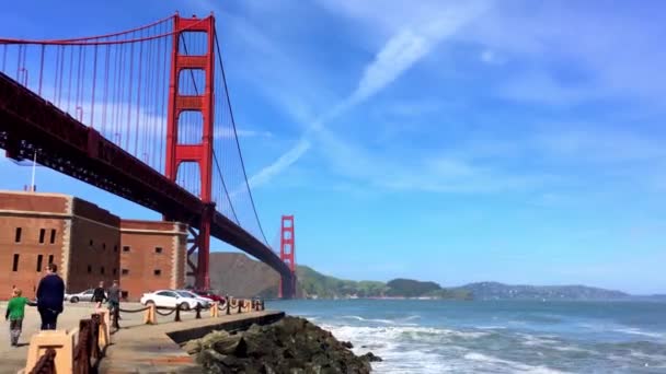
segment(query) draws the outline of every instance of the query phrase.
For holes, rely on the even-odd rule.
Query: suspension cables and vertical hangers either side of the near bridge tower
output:
[[[169,16],[133,30],[89,37],[0,37],[0,71],[164,174],[170,54],[176,34],[173,21],[174,16]],[[206,39],[198,34],[183,30],[179,33],[185,55],[206,52]],[[214,37],[211,52],[218,59],[214,200],[218,211],[268,246],[248,183],[220,44],[217,34]],[[181,94],[198,95],[205,90],[200,71],[183,71],[177,79]],[[179,118],[179,143],[200,142],[202,128],[200,115],[183,112]],[[181,164],[176,182],[200,196],[196,164]]]

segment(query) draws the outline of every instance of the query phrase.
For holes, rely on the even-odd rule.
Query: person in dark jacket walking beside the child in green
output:
[[[42,316],[42,329],[55,330],[58,315],[62,313],[65,301],[65,282],[57,274],[58,267],[49,264],[46,267],[46,276],[37,287],[37,311]]]

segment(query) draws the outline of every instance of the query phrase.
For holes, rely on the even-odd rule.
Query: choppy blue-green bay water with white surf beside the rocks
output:
[[[384,361],[376,373],[666,373],[666,303],[340,300],[267,307]]]

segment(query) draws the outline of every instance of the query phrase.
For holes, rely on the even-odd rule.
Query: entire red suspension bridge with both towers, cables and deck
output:
[[[106,35],[0,38],[0,148],[187,223],[195,287],[210,285],[214,236],[275,269],[291,297],[294,217],[278,254],[248,183],[215,25],[176,13]]]

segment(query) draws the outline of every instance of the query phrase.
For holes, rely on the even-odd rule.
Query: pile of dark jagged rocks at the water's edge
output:
[[[214,331],[184,349],[207,373],[370,373],[375,354],[358,357],[354,346],[305,318],[252,325],[245,331]]]

